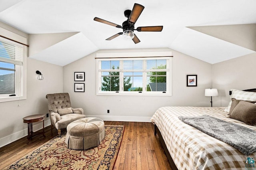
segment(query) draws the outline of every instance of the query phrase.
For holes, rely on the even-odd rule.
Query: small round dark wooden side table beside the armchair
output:
[[[28,142],[32,139],[32,136],[36,136],[38,134],[42,134],[44,137],[44,119],[45,114],[38,114],[38,115],[30,115],[23,118],[23,123],[28,123]],[[43,121],[43,131],[42,132],[33,132],[32,123]]]

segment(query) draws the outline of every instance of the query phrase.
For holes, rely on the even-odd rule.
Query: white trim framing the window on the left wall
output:
[[[3,29],[3,28],[0,28],[0,30],[4,30],[4,32],[6,33],[6,35],[4,35],[4,36],[6,36],[6,37],[8,37],[8,35],[9,35],[13,39],[16,39],[16,40],[18,40],[20,42],[23,42],[23,43],[26,43],[26,41],[27,41],[27,38],[19,36],[18,34],[15,34],[13,32],[10,32],[8,30]],[[26,96],[27,96],[27,90],[26,90],[26,87],[27,87],[27,83],[26,83],[27,47],[26,47],[26,45],[21,45],[19,43],[7,40],[7,39],[2,38],[2,37],[0,37],[0,40],[4,41],[4,42],[8,42],[8,43],[13,44],[13,45],[23,47],[23,64],[22,65],[16,65],[15,64],[16,71],[15,71],[15,80],[14,81],[19,82],[18,86],[15,85],[15,94],[16,94],[16,96],[2,95],[0,97],[0,102],[17,101],[17,100],[26,99]],[[6,61],[3,61],[3,62],[6,62]],[[17,93],[17,90],[19,91],[19,93]]]

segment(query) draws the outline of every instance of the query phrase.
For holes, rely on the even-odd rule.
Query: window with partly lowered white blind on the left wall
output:
[[[0,39],[0,99],[23,95],[23,45]],[[12,99],[11,99],[12,100]],[[8,100],[8,101],[11,101]],[[15,100],[15,99],[14,99]],[[6,101],[6,100],[5,100]]]

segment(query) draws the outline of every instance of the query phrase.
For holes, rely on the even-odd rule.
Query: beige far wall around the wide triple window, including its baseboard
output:
[[[212,87],[212,65],[169,48],[99,50],[99,53],[172,51],[172,96],[97,96],[96,53],[64,66],[63,91],[70,93],[72,107],[103,120],[150,121],[162,106],[210,106],[204,89]],[[85,92],[74,92],[74,72],[85,72]],[[198,75],[198,87],[186,87],[186,75]],[[107,114],[107,110],[110,113]]]

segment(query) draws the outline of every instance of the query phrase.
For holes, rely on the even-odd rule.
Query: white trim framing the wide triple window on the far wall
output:
[[[166,57],[164,57],[166,56]],[[161,57],[161,58],[158,58]],[[166,86],[166,92],[160,93],[159,91],[122,91],[123,86],[123,72],[120,72],[120,91],[100,91],[101,84],[100,84],[100,72],[99,72],[99,60],[132,60],[132,58],[136,59],[169,59],[169,71],[166,72],[166,83],[168,82],[168,85]],[[111,70],[113,71],[113,70]],[[146,72],[143,72],[143,74],[146,74]],[[172,51],[159,51],[159,52],[137,52],[137,53],[96,53],[96,95],[127,95],[127,96],[171,96],[172,95]],[[146,75],[143,75],[143,77],[147,77]],[[144,78],[143,78],[144,79]],[[143,80],[145,81],[145,80]],[[122,84],[122,85],[121,85]],[[145,87],[145,83],[144,87]]]

